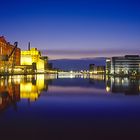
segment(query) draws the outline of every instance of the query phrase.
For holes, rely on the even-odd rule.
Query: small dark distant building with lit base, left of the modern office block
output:
[[[89,72],[91,74],[104,74],[105,66],[96,66],[95,64],[89,65]]]

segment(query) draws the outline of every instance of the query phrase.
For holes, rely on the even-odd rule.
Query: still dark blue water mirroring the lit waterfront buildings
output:
[[[135,139],[140,130],[140,79],[0,79],[2,139]]]

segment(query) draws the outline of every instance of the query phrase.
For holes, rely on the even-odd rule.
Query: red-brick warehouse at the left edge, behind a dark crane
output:
[[[0,37],[0,73],[10,72],[14,66],[20,65],[20,52],[17,42],[11,45],[4,36]]]

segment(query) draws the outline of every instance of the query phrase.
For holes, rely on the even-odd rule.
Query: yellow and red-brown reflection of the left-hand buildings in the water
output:
[[[9,76],[0,78],[0,111],[9,106],[17,108],[21,99],[36,101],[41,92],[48,90],[48,83],[55,78],[52,75]]]

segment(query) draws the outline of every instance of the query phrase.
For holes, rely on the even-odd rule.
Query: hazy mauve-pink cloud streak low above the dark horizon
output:
[[[41,50],[42,55],[47,55],[49,59],[80,59],[94,57],[112,57],[137,54],[140,50],[133,49],[110,49],[110,50]]]

